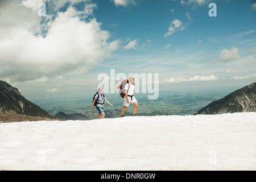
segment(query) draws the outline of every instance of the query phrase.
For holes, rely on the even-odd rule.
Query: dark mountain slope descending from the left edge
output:
[[[47,111],[26,100],[17,88],[0,80],[0,113],[53,118]]]

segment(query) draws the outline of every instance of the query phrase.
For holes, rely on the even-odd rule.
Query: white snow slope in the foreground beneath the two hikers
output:
[[[255,170],[256,113],[0,123],[0,170]]]

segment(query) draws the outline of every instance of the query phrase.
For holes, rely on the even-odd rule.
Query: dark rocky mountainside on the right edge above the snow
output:
[[[214,101],[197,114],[256,112],[256,82]]]

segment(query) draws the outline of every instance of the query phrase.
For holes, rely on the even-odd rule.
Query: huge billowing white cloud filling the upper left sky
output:
[[[110,33],[101,30],[95,18],[81,21],[81,12],[72,6],[57,13],[42,36],[36,34],[42,19],[31,8],[10,1],[1,5],[5,18],[0,16],[0,77],[12,82],[81,75],[119,47],[119,40],[108,42]],[[86,4],[84,10],[92,14],[94,8]]]

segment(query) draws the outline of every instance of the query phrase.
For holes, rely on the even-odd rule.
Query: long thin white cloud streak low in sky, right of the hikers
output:
[[[191,81],[212,81],[212,80],[217,80],[218,77],[211,75],[211,76],[194,76],[190,78],[185,78],[183,76],[177,77],[177,78],[170,78],[170,79],[165,79],[165,83],[179,83],[179,82],[191,82]]]

